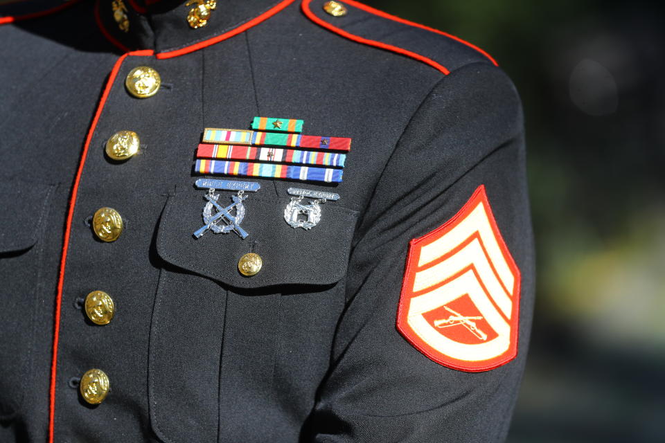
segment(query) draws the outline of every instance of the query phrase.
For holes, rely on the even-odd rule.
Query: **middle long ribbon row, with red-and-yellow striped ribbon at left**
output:
[[[281,147],[255,147],[238,145],[200,144],[196,150],[199,159],[228,159],[299,163],[344,168],[346,154],[323,151],[287,150]]]

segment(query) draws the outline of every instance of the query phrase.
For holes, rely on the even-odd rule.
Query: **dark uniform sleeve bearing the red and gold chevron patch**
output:
[[[488,220],[481,217],[477,223],[491,222],[493,230],[474,231],[476,221],[464,221],[469,204],[481,201],[474,199],[480,194],[486,195]],[[466,251],[473,235],[454,230],[463,223],[473,225],[469,232],[479,233],[478,244],[488,258],[472,258],[478,282],[470,278],[460,283],[455,290],[468,293],[452,300],[445,293],[453,290],[448,273],[454,270],[432,268]],[[417,239],[433,242],[444,234],[443,243],[430,245],[427,252],[423,246],[409,253]],[[491,251],[493,235],[496,253]],[[409,254],[416,255],[409,259],[411,267],[405,266]],[[428,254],[434,265],[425,266],[429,282],[423,283],[414,269]],[[469,270],[463,260],[451,266],[459,266],[456,276]],[[514,269],[516,280],[513,286],[504,285],[508,295],[499,297],[490,280],[500,280],[495,277],[502,269]],[[418,287],[414,279],[420,279]],[[533,282],[520,99],[500,69],[470,64],[443,78],[423,100],[360,221],[346,280],[347,307],[339,320],[331,369],[308,424],[310,441],[503,441],[524,369]],[[414,325],[416,334],[409,337],[398,327],[398,310],[428,287],[438,289],[429,293],[429,308],[402,312],[405,325],[424,325]],[[470,297],[475,299],[469,302]],[[508,303],[503,313],[502,297]],[[511,322],[513,355],[506,351],[484,364],[477,359],[490,348],[479,356],[466,351],[499,343],[495,338],[505,336]],[[471,347],[458,346],[460,354],[459,342]],[[505,343],[499,351],[490,350],[490,356],[502,352],[501,346]],[[465,352],[468,365],[456,365],[460,356],[467,359]]]

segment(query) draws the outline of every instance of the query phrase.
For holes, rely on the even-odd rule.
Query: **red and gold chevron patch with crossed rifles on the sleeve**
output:
[[[480,372],[517,355],[519,308],[520,270],[479,186],[452,219],[411,240],[397,328],[436,363]]]

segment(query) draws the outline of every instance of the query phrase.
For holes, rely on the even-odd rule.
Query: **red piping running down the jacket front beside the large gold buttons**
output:
[[[95,132],[97,122],[106,100],[111,92],[113,87],[114,80],[120,71],[121,65],[125,58],[128,55],[142,55],[148,56],[152,55],[154,51],[148,49],[145,51],[134,51],[122,55],[113,66],[111,73],[109,74],[109,80],[106,82],[106,87],[102,94],[102,97],[99,100],[99,105],[97,106],[97,111],[95,117],[92,120],[90,129],[85,138],[85,145],[83,145],[83,150],[81,152],[80,161],[78,163],[78,170],[76,171],[76,178],[74,179],[74,186],[71,190],[71,197],[69,198],[69,209],[67,211],[67,228],[64,231],[64,238],[62,240],[62,255],[60,257],[60,274],[58,275],[57,280],[57,296],[55,297],[55,325],[53,329],[53,360],[51,361],[51,388],[49,390],[49,399],[48,399],[48,442],[53,443],[53,430],[55,425],[55,376],[57,374],[57,343],[60,338],[60,307],[62,305],[62,288],[64,287],[64,269],[67,264],[67,249],[69,248],[69,236],[71,234],[71,222],[74,215],[74,207],[76,206],[76,196],[78,195],[78,185],[81,181],[81,174],[83,172],[83,165],[85,164],[85,159],[88,154],[88,148],[90,146],[90,141],[92,140],[92,135]]]

